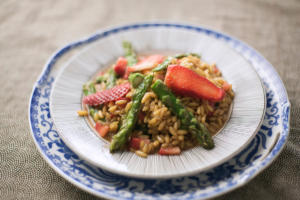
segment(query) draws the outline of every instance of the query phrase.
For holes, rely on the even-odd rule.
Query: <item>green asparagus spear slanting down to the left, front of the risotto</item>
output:
[[[113,139],[110,144],[110,151],[115,152],[120,150],[124,144],[128,141],[128,138],[136,124],[138,119],[138,114],[141,108],[142,98],[145,95],[146,91],[150,87],[153,80],[153,75],[147,75],[143,82],[136,88],[135,93],[132,98],[132,105],[128,111],[126,117],[122,121],[122,125],[118,133],[113,136]]]

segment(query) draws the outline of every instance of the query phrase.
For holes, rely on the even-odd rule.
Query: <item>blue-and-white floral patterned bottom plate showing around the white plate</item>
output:
[[[263,66],[257,69],[266,88],[267,110],[264,122],[251,143],[231,160],[195,176],[166,180],[144,180],[112,174],[81,160],[60,139],[49,112],[49,95],[54,81],[51,69],[63,54],[80,45],[88,44],[111,34],[141,28],[172,27],[189,29],[222,39],[242,55],[250,55],[250,62]],[[245,56],[246,57],[246,56]],[[261,73],[260,73],[261,72]],[[264,77],[268,74],[268,77]],[[273,85],[274,87],[270,87]],[[276,86],[276,87],[275,87]],[[275,89],[274,89],[275,88]],[[107,30],[72,43],[56,53],[34,87],[29,119],[34,140],[48,163],[69,181],[95,195],[122,199],[201,199],[225,193],[250,180],[277,156],[286,142],[289,131],[289,103],[284,86],[272,66],[256,51],[244,43],[222,33],[205,28],[181,24],[134,24]],[[278,142],[270,154],[260,162],[261,149],[267,149],[267,141],[280,130]]]

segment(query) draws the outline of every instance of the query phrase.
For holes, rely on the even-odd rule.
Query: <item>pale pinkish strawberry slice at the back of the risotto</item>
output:
[[[163,55],[151,55],[147,56],[146,58],[142,59],[136,65],[132,66],[131,69],[133,71],[143,71],[146,69],[152,69],[157,64],[160,64],[164,61]]]

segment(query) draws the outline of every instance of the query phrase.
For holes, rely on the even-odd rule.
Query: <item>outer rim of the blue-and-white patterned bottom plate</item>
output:
[[[68,180],[69,182],[71,182],[73,185],[77,186],[78,188],[81,188],[91,194],[94,194],[96,196],[100,196],[100,197],[106,197],[106,198],[112,198],[112,196],[109,196],[107,194],[103,194],[103,193],[99,193],[91,188],[88,188],[87,186],[81,184],[80,182],[77,182],[75,180],[73,180],[71,177],[69,177],[68,175],[66,175],[63,171],[61,171],[61,169],[57,166],[54,165],[54,163],[49,160],[47,158],[47,156],[45,155],[45,153],[42,151],[41,147],[39,146],[39,144],[37,143],[35,136],[34,136],[34,129],[31,123],[31,108],[32,108],[32,102],[34,101],[33,97],[34,97],[34,92],[36,91],[36,89],[38,88],[39,85],[41,85],[45,79],[48,77],[48,74],[50,73],[52,66],[55,64],[56,60],[59,59],[63,54],[65,54],[66,52],[68,52],[69,50],[77,47],[77,46],[81,46],[83,44],[87,44],[90,43],[92,41],[95,40],[95,37],[97,35],[99,35],[100,33],[104,33],[107,32],[109,30],[111,30],[112,28],[116,28],[116,27],[124,27],[124,26],[135,26],[135,25],[141,25],[141,24],[146,24],[146,25],[154,25],[154,24],[160,24],[160,25],[166,25],[168,24],[169,26],[175,26],[175,25],[179,25],[179,26],[184,26],[184,27],[190,27],[193,29],[202,29],[202,31],[210,31],[213,32],[214,34],[220,35],[220,36],[224,36],[230,40],[233,40],[235,42],[237,42],[239,45],[243,46],[244,48],[252,51],[252,53],[254,55],[256,55],[259,59],[261,59],[263,62],[265,62],[266,64],[266,68],[268,70],[271,71],[271,73],[273,75],[275,75],[276,79],[279,80],[277,82],[277,84],[280,86],[280,90],[281,92],[283,92],[283,98],[285,99],[284,102],[281,104],[282,109],[285,109],[285,115],[281,116],[282,118],[285,117],[285,119],[282,119],[283,122],[285,122],[285,127],[284,129],[280,132],[280,137],[279,140],[274,144],[273,148],[270,150],[270,153],[266,155],[266,157],[259,161],[258,163],[255,163],[255,165],[253,166],[253,170],[251,172],[251,174],[249,174],[249,176],[246,179],[243,179],[241,182],[229,187],[229,188],[222,188],[221,191],[216,191],[214,194],[211,194],[209,197],[216,197],[219,195],[222,195],[224,193],[227,193],[233,189],[236,189],[238,187],[241,187],[242,185],[246,184],[250,179],[254,178],[256,175],[258,175],[260,172],[262,172],[266,167],[268,167],[272,161],[275,160],[275,158],[278,157],[278,155],[280,154],[280,152],[282,151],[283,147],[285,146],[286,142],[287,142],[287,137],[289,134],[289,129],[290,129],[290,102],[288,100],[288,94],[286,91],[286,88],[284,87],[283,81],[281,80],[278,72],[276,71],[276,69],[255,49],[253,49],[251,46],[249,46],[248,44],[236,39],[235,37],[230,36],[229,34],[224,33],[223,31],[216,31],[214,29],[211,28],[206,28],[205,26],[200,26],[200,25],[192,25],[192,24],[188,24],[188,23],[170,23],[170,22],[143,22],[143,23],[131,23],[131,24],[126,24],[126,25],[120,25],[120,26],[113,26],[113,27],[108,27],[107,29],[101,29],[98,32],[90,35],[89,37],[83,38],[81,40],[77,40],[75,42],[71,42],[67,45],[65,45],[63,48],[57,50],[56,52],[54,52],[52,54],[52,56],[48,59],[48,61],[46,62],[46,64],[44,65],[44,68],[40,74],[40,76],[38,77],[37,81],[34,83],[33,85],[33,89],[31,92],[31,95],[29,97],[29,107],[28,107],[28,122],[29,122],[29,127],[30,127],[30,132],[32,135],[32,138],[35,142],[36,148],[38,149],[38,151],[41,153],[42,157],[46,160],[46,162],[62,177],[64,177],[66,180]],[[252,167],[252,166],[251,166]]]

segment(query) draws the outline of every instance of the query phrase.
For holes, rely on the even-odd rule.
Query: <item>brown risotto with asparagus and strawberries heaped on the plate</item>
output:
[[[177,155],[212,136],[229,117],[234,92],[215,64],[199,55],[137,56],[123,42],[124,57],[83,86],[83,110],[110,151]]]

